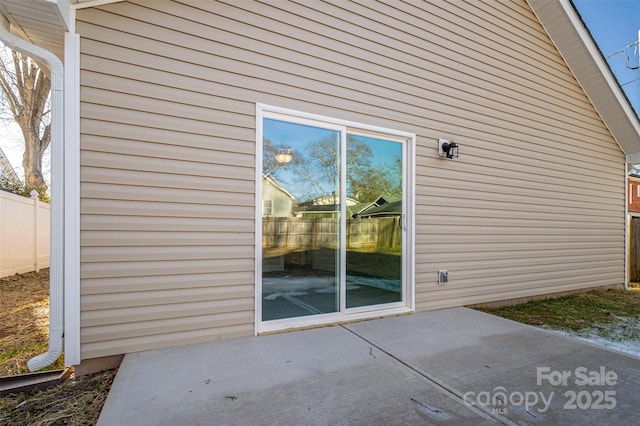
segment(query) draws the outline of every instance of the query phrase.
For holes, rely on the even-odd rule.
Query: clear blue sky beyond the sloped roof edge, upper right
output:
[[[573,4],[631,105],[640,115],[640,70],[628,69],[623,54],[614,55],[625,46],[638,42],[640,0],[573,0]],[[629,66],[637,67],[638,46],[634,47],[626,49],[626,53]]]

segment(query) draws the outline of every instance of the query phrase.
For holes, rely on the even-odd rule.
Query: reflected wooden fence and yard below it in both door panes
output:
[[[339,310],[339,223],[263,218],[263,320]],[[399,217],[347,220],[347,308],[402,300]]]

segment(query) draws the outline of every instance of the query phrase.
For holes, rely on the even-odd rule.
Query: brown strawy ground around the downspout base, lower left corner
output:
[[[0,376],[29,372],[27,361],[47,351],[49,270],[0,278]],[[64,368],[63,357],[45,370]],[[0,398],[0,425],[93,425],[115,370],[70,379],[46,390]]]

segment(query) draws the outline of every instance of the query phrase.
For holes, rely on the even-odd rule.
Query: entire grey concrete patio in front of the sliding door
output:
[[[128,354],[98,424],[636,424],[639,370],[455,308]]]

